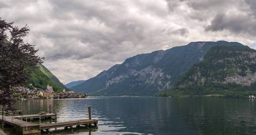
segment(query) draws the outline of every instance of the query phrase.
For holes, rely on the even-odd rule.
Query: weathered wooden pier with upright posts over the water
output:
[[[40,119],[40,124],[35,124],[31,122],[27,122],[28,118],[38,118],[38,115],[19,115],[16,114],[14,116],[13,113],[10,115],[5,114],[5,117],[0,117],[0,121],[5,122],[5,124],[8,124],[10,126],[14,126],[15,129],[17,129],[18,132],[20,132],[22,135],[32,135],[37,134],[40,135],[41,131],[49,131],[51,128],[58,128],[58,127],[64,127],[67,129],[68,127],[85,125],[88,127],[96,127],[98,120],[91,119],[91,107],[88,107],[89,112],[89,119],[82,119],[82,120],[75,120],[75,121],[65,121],[65,122],[57,122],[57,111],[55,108],[55,114],[52,113],[46,113],[46,114],[38,114]],[[42,117],[55,117],[55,123],[46,123],[41,124],[41,118]],[[24,118],[26,119],[24,121]]]

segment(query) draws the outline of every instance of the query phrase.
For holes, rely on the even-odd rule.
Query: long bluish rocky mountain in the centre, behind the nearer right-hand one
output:
[[[167,50],[138,54],[70,89],[91,95],[155,95],[169,90],[213,46],[238,42],[191,42]]]

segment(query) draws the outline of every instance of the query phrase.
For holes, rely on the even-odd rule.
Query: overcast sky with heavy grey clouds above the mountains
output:
[[[256,48],[256,0],[0,0],[60,81],[87,80],[136,54],[191,41]]]

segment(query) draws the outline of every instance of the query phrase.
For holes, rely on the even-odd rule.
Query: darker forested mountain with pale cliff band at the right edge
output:
[[[215,46],[174,85],[171,96],[256,94],[256,50],[248,46]]]

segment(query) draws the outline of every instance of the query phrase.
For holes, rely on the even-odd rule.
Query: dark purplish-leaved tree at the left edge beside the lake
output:
[[[44,61],[35,45],[24,43],[28,31],[27,25],[19,29],[0,18],[0,105],[11,110],[16,101],[11,87],[26,86],[32,69]]]

